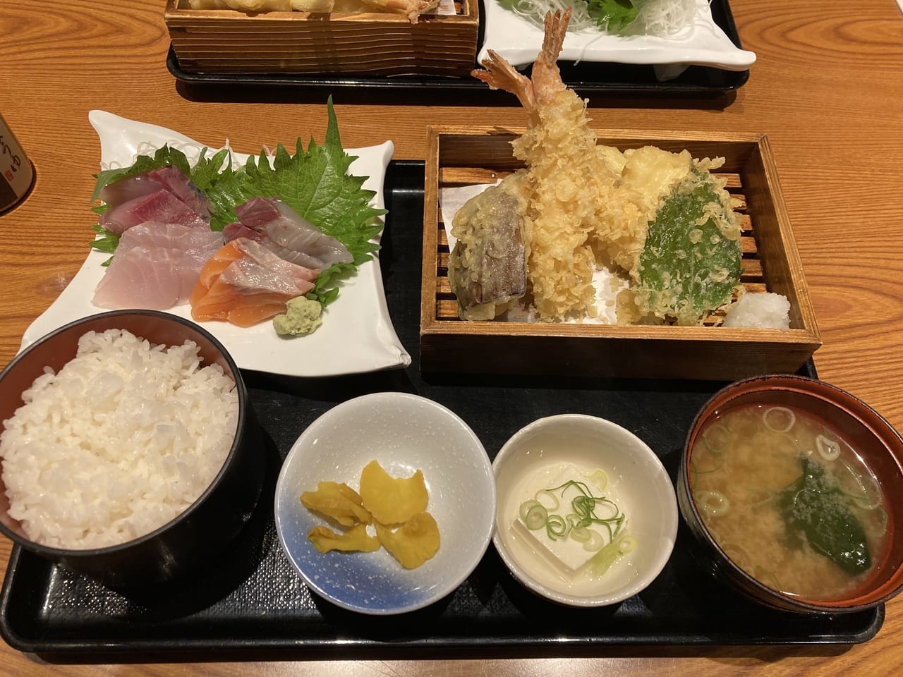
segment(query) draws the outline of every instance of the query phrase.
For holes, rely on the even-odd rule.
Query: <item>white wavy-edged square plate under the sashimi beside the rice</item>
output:
[[[196,161],[200,149],[205,146],[209,146],[211,153],[216,150],[215,146],[199,144],[165,127],[146,125],[104,111],[91,111],[88,120],[100,137],[102,169],[127,167],[135,161],[136,155],[152,154],[163,144],[181,150],[189,162]],[[293,149],[293,140],[287,140],[286,146]],[[368,177],[364,188],[376,191],[371,204],[377,209],[385,206],[383,181],[394,150],[390,141],[368,148],[347,149],[349,155],[358,158],[351,163],[349,172]],[[239,163],[247,160],[247,155],[242,153],[233,153],[233,157]],[[86,209],[86,246],[90,226],[96,223],[92,218],[92,213]],[[25,330],[22,348],[71,320],[107,310],[91,303],[94,289],[106,271],[101,264],[107,258],[108,254],[94,250],[88,254],[69,286]],[[191,320],[188,305],[176,306],[169,312]],[[286,376],[335,376],[411,364],[411,356],[398,340],[388,315],[378,258],[361,265],[358,274],[343,284],[339,298],[325,309],[321,327],[309,336],[279,338],[272,322],[262,322],[247,329],[222,321],[203,322],[202,326],[222,341],[242,369]]]

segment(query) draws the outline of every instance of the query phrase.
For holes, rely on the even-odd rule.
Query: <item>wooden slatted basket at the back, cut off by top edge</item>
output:
[[[457,14],[308,14],[193,10],[167,0],[180,68],[191,73],[342,73],[460,78],[475,68],[479,0]]]

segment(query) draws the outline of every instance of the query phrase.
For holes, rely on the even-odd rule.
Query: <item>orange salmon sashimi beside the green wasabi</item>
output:
[[[287,301],[310,292],[319,273],[240,237],[204,265],[191,292],[191,317],[250,327],[284,312]]]

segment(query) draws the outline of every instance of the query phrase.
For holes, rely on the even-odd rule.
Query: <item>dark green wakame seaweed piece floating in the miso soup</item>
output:
[[[871,566],[865,529],[846,504],[840,487],[825,474],[822,464],[801,457],[803,474],[777,496],[791,544],[800,535],[815,552],[842,570],[859,574]]]

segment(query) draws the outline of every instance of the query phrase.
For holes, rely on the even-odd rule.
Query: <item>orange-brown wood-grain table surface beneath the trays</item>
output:
[[[79,269],[91,220],[98,139],[88,111],[163,125],[237,151],[321,139],[328,92],[274,94],[185,88],[166,69],[164,0],[4,2],[0,112],[37,168],[33,194],[0,216],[0,365],[24,329]],[[726,106],[594,97],[595,126],[766,133],[774,150],[824,347],[819,375],[903,429],[903,16],[894,0],[732,0],[740,38],[758,54]],[[525,123],[514,97],[498,105],[424,106],[376,94],[332,92],[347,147],[391,139],[396,158],[424,159],[425,125]],[[350,96],[349,96],[350,98]],[[453,102],[452,102],[453,103]],[[10,543],[0,543],[7,561]],[[568,656],[467,654],[465,660],[48,664],[0,646],[11,675],[266,673],[896,674],[903,664],[903,597],[887,605],[864,645],[599,649]],[[416,658],[416,657],[414,657]]]

